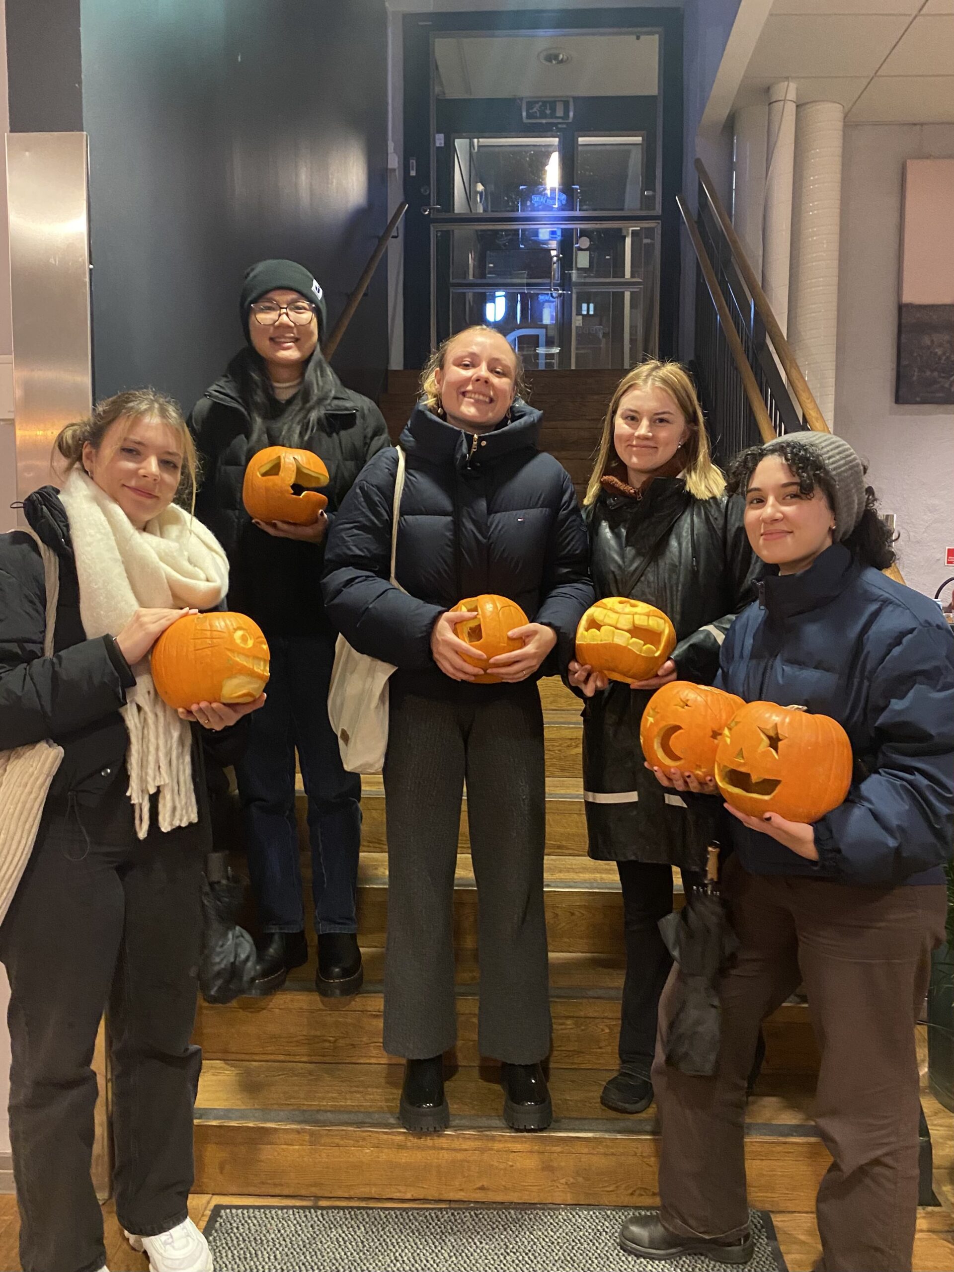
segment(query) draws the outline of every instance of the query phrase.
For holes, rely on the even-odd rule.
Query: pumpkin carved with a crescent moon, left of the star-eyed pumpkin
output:
[[[707,684],[673,681],[656,689],[640,722],[640,743],[647,762],[668,771],[678,768],[700,780],[715,776],[716,747],[725,726],[745,703],[734,693]]]

